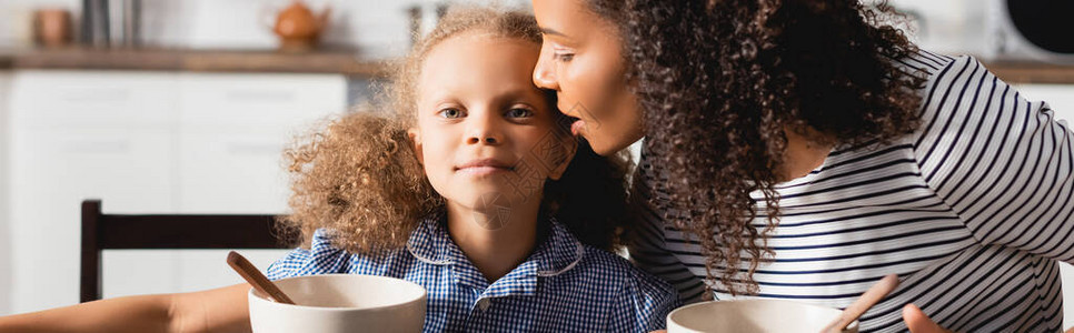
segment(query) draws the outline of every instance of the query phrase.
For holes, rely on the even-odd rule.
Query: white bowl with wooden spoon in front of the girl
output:
[[[250,289],[253,332],[421,332],[426,291],[385,276],[325,274],[276,281],[296,305]]]

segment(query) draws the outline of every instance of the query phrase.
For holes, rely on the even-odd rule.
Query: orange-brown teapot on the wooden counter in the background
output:
[[[321,33],[328,29],[328,18],[331,8],[326,7],[315,14],[302,0],[294,0],[291,4],[276,14],[272,32],[280,38],[280,50],[309,51],[317,47]]]

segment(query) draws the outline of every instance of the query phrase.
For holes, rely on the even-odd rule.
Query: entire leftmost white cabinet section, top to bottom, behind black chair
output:
[[[11,310],[23,312],[77,302],[81,200],[119,212],[175,206],[176,112],[161,91],[176,82],[167,73],[30,71],[11,84],[8,255]]]

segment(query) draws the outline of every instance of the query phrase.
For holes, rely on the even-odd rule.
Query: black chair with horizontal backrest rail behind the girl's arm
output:
[[[120,249],[289,249],[275,215],[103,214],[100,200],[82,201],[79,300],[101,299],[101,251]]]

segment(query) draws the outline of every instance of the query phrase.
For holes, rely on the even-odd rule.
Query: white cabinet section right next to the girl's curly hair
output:
[[[344,111],[346,84],[337,75],[181,75],[179,210],[282,213],[282,150]]]

